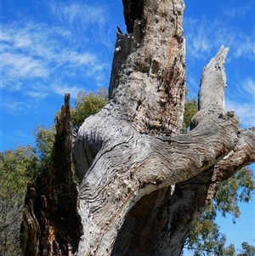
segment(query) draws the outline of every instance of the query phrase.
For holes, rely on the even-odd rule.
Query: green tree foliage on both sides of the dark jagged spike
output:
[[[73,125],[82,125],[85,118],[100,111],[106,102],[104,89],[99,89],[98,94],[80,92],[76,108],[71,110]],[[19,146],[0,153],[0,252],[3,255],[20,255],[20,223],[26,185],[49,163],[54,134],[54,125],[50,128],[39,125],[34,129],[36,147]]]

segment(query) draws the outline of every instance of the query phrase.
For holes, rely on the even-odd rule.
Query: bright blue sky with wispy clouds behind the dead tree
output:
[[[0,150],[34,145],[33,129],[49,127],[71,93],[108,88],[116,26],[126,31],[122,1],[4,0],[1,22]],[[229,47],[226,108],[255,126],[254,0],[185,1],[187,86],[196,97],[201,71],[221,45]],[[254,200],[241,219],[219,220],[228,242],[254,239]],[[244,217],[243,217],[244,216]],[[235,234],[235,235],[233,235]],[[236,236],[239,234],[239,236]]]

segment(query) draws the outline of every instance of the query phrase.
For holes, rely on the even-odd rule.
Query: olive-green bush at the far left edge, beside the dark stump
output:
[[[0,153],[0,252],[20,254],[20,222],[26,185],[34,179],[39,158],[30,145]]]

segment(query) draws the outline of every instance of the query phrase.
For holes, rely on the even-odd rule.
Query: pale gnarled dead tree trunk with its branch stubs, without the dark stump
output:
[[[220,182],[255,162],[255,128],[241,131],[224,109],[223,47],[203,71],[192,130],[179,134],[184,3],[122,2],[127,34],[117,33],[110,100],[85,120],[73,147],[77,255],[179,255]]]

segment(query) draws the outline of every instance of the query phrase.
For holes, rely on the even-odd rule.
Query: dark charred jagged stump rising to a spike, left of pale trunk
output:
[[[71,170],[70,95],[57,120],[49,167],[27,186],[20,241],[24,255],[73,255],[81,236],[78,191]]]

